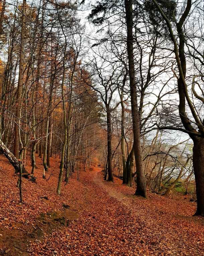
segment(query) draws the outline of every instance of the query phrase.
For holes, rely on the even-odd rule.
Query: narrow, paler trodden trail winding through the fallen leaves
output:
[[[99,185],[101,188],[106,190],[109,196],[121,202],[131,212],[131,216],[133,218],[137,216],[138,218],[137,222],[140,221],[141,230],[144,229],[144,232],[146,233],[148,231],[148,235],[146,237],[147,239],[146,244],[149,244],[149,240],[151,240],[150,244],[152,245],[153,248],[154,248],[153,246],[154,244],[158,245],[158,249],[160,250],[162,249],[161,255],[204,255],[203,250],[199,250],[197,248],[197,245],[199,243],[197,243],[195,248],[192,248],[192,244],[193,242],[195,242],[195,237],[194,236],[192,237],[191,235],[188,234],[188,229],[187,229],[187,232],[185,229],[181,229],[182,230],[181,232],[181,230],[178,230],[178,226],[173,226],[171,227],[171,232],[170,232],[170,230],[168,229],[167,218],[164,216],[163,212],[161,212],[161,215],[158,218],[158,215],[155,215],[154,212],[151,211],[151,208],[144,207],[146,203],[144,203],[144,205],[141,207],[142,200],[148,201],[148,199],[143,199],[141,197],[136,197],[136,196],[128,197],[127,195],[124,195],[121,192],[116,191],[112,184],[107,184],[103,182],[100,174],[95,175],[94,182],[97,185]],[[141,200],[139,204],[135,202],[135,200],[138,200],[138,199]],[[174,222],[173,216],[168,215],[168,218],[170,222]],[[134,225],[135,223],[132,222],[132,224]],[[191,223],[188,223],[188,224],[190,227]],[[193,228],[193,227],[190,227],[190,228]],[[151,239],[149,239],[149,237]],[[157,241],[155,239],[157,239]],[[185,244],[186,242],[187,244]],[[190,248],[189,248],[189,244],[191,245]],[[146,255],[148,255],[148,252],[146,253],[147,253]]]

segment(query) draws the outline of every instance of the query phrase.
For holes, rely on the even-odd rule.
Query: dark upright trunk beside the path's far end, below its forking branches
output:
[[[108,181],[113,182],[111,114],[107,110]]]

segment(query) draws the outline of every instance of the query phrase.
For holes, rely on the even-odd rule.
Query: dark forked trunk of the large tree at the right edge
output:
[[[181,121],[183,123],[184,128],[189,132],[191,139],[194,142],[193,146],[193,169],[196,181],[196,195],[197,195],[197,210],[195,215],[204,216],[204,138],[197,137],[202,134],[204,137],[204,125],[201,123],[197,113],[195,110],[191,99],[188,95],[188,89],[186,84],[186,56],[185,56],[185,42],[186,37],[183,31],[183,24],[185,23],[187,17],[189,16],[192,2],[191,0],[187,1],[186,8],[179,20],[176,23],[177,26],[177,35],[174,35],[172,30],[171,23],[169,19],[166,17],[161,7],[158,5],[156,0],[153,0],[155,6],[163,16],[166,21],[167,27],[169,29],[170,37],[172,42],[174,43],[174,53],[175,59],[177,61],[177,67],[179,70],[179,78],[178,78],[178,93],[179,93],[179,115]],[[176,38],[179,37],[179,47]],[[188,102],[188,106],[191,110],[192,116],[194,118],[194,123],[197,124],[198,131],[196,131],[195,127],[191,124],[190,119],[186,113],[186,101]],[[192,117],[191,117],[192,119]]]

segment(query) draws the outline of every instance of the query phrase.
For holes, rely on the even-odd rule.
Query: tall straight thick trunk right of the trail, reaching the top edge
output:
[[[136,163],[136,183],[137,189],[135,195],[146,198],[146,181],[142,163],[142,151],[140,145],[140,120],[137,105],[137,88],[135,82],[134,70],[134,53],[133,53],[133,21],[132,21],[132,0],[125,0],[125,15],[127,25],[127,54],[128,54],[128,67],[130,79],[130,98],[131,98],[131,111],[132,111],[132,128],[133,128],[133,147]]]

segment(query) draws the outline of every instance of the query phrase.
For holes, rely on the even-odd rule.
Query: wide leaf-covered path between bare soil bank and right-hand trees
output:
[[[90,207],[77,224],[36,244],[34,255],[204,255],[204,227],[182,215],[190,216],[192,205],[155,194],[135,197],[119,179],[104,181],[100,170],[80,174]]]

